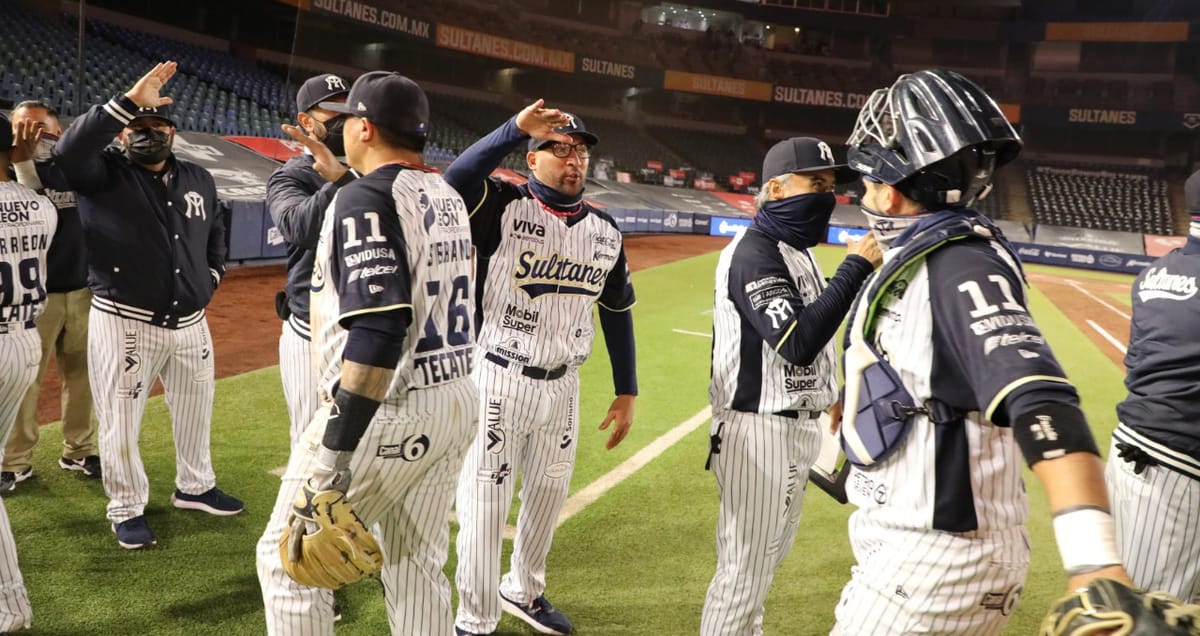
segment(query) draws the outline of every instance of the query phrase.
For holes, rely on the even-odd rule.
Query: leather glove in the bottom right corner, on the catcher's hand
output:
[[[1058,599],[1042,636],[1200,636],[1200,605],[1165,592],[1141,592],[1111,578]]]

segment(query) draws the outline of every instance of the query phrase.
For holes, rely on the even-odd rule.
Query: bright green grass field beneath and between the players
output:
[[[827,272],[842,253],[830,247],[818,250]],[[598,340],[593,359],[582,371],[584,424],[572,493],[707,406],[710,340],[680,331],[709,332],[715,262],[715,253],[707,254],[634,276],[641,299],[635,323],[642,394],[635,427],[620,446],[604,450],[607,433],[595,427],[611,401],[612,382],[604,344]],[[1114,406],[1124,396],[1123,371],[1036,289],[1031,290],[1031,308],[1079,385],[1088,421],[1106,449],[1115,424]],[[220,344],[218,356],[238,355]],[[170,425],[162,400],[152,398],[142,455],[151,481],[146,516],[158,546],[136,552],[116,545],[104,518],[107,499],[101,485],[58,469],[59,426],[43,428],[35,457],[37,479],[20,484],[4,500],[34,605],[34,629],[28,634],[265,631],[254,542],[278,487],[270,470],[287,458],[287,412],[277,368],[221,380],[212,428],[218,486],[244,498],[246,512],[218,518],[170,506]],[[707,422],[701,424],[559,528],[550,556],[547,596],[571,617],[578,634],[698,631],[715,564],[718,500],[714,479],[703,470],[707,430]],[[1031,475],[1026,482],[1033,565],[1021,605],[1004,631],[1009,635],[1033,634],[1051,600],[1064,588],[1042,487]],[[810,491],[796,547],[767,601],[767,632],[828,634],[852,564],[846,538],[850,512],[848,506],[838,505],[816,488]],[[446,571],[452,576],[452,550]],[[347,590],[346,617],[337,632],[386,631],[379,584],[366,581]],[[498,634],[533,631],[505,617]]]

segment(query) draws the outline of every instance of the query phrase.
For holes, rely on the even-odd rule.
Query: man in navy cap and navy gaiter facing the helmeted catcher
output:
[[[762,162],[750,227],[716,265],[710,464],[721,497],[716,574],[701,634],[761,634],[763,601],[796,540],[817,418],[838,400],[833,336],[880,264],[875,239],[850,244],[826,284],[821,242],[854,173],[811,137],[779,142]]]

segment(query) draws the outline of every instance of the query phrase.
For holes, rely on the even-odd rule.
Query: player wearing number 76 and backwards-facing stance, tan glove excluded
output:
[[[331,594],[293,581],[278,546],[289,516],[311,512],[294,505],[298,492],[337,490],[379,535],[391,632],[450,634],[442,568],[478,409],[467,209],[421,164],[430,115],[415,83],[365,73],[348,104],[320,104],[349,115],[346,156],[364,176],[338,190],[317,244],[311,318],[320,407],[293,449],[259,542],[268,632],[334,632]]]

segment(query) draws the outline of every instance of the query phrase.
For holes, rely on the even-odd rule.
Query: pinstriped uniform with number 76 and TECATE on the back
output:
[[[332,593],[283,571],[278,541],[312,473],[334,388],[346,318],[408,307],[412,324],[386,397],[350,462],[348,499],[383,547],[391,634],[450,634],[450,502],[475,434],[470,229],[442,178],[385,164],[338,191],[325,215],[312,277],[313,353],[322,407],[294,449],[266,530],[258,575],[270,634],[334,632]]]

